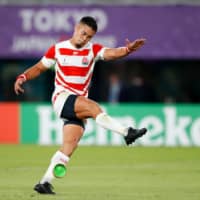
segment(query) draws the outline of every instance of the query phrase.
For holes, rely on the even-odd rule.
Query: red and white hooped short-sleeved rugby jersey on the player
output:
[[[94,64],[103,60],[105,47],[88,43],[83,48],[75,48],[69,40],[56,43],[42,58],[47,68],[55,67],[54,95],[61,91],[87,96]]]

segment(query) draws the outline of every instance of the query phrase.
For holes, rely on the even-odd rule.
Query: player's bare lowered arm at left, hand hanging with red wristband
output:
[[[34,79],[39,76],[41,73],[46,71],[47,68],[39,61],[37,64],[33,65],[32,67],[28,68],[23,74],[20,74],[14,84],[14,91],[17,95],[20,93],[24,93],[24,89],[22,87],[23,83],[28,80]]]

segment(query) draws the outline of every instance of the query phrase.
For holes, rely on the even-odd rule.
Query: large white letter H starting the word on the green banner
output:
[[[61,144],[62,143],[62,120],[52,119],[53,110],[51,106],[38,106],[39,116],[39,144]],[[53,140],[53,132],[55,140]]]

